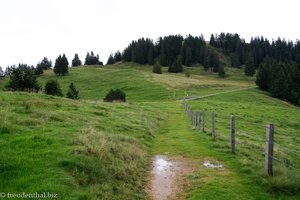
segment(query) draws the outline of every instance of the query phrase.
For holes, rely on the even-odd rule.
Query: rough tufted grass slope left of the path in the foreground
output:
[[[1,192],[142,198],[159,107],[0,93]]]

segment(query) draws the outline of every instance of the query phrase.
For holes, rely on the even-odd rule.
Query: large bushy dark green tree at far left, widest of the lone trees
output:
[[[12,67],[10,72],[10,80],[5,86],[8,90],[38,92],[41,87],[35,76],[33,66],[19,64],[18,67]]]

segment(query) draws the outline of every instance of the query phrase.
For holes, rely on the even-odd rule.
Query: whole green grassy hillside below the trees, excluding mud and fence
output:
[[[224,79],[198,66],[185,70],[189,78],[169,74],[166,68],[159,75],[150,67],[123,63],[71,68],[62,77],[49,70],[38,78],[43,85],[57,79],[64,93],[73,82],[79,101],[1,91],[1,191],[53,191],[61,199],[144,199],[151,155],[168,152],[196,163],[182,198],[298,199],[299,108],[258,89],[189,101],[194,109],[216,112],[220,137],[212,141],[193,130],[179,100],[254,87],[254,78],[232,68],[225,69]],[[0,89],[7,81],[0,80]],[[124,90],[128,103],[103,103],[113,88]],[[237,155],[229,153],[221,138],[229,134],[231,113],[237,117],[238,140],[250,145],[237,146]],[[283,152],[275,155],[296,169],[275,165],[274,178],[262,176],[263,156],[255,153],[264,146],[268,122],[278,130],[275,152]],[[226,170],[203,168],[207,158],[222,162]]]

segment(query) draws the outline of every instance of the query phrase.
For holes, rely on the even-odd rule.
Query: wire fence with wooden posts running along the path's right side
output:
[[[272,124],[262,125],[255,123],[254,127],[256,129],[259,129],[261,133],[266,133],[264,138],[257,137],[257,135],[249,134],[249,132],[242,130],[236,132],[235,116],[232,115],[230,120],[230,134],[228,134],[228,132],[225,134],[223,129],[221,131],[216,126],[217,115],[215,112],[208,115],[208,112],[205,110],[194,111],[191,106],[187,104],[185,99],[182,101],[182,105],[195,130],[205,132],[207,135],[211,134],[213,140],[229,142],[228,144],[230,144],[229,146],[232,153],[249,155],[246,151],[251,149],[251,153],[259,155],[258,157],[254,157],[254,159],[259,162],[264,160],[265,173],[267,175],[273,175],[273,161],[288,170],[300,172],[296,166],[300,163],[300,152],[298,152],[297,148],[296,150],[287,149],[281,144],[275,143],[274,126]],[[218,121],[221,122],[219,124],[224,125],[224,119]],[[211,124],[211,126],[208,124]],[[241,127],[253,126],[253,124],[249,122],[239,122],[239,125]],[[282,128],[279,130],[283,131]],[[236,150],[236,147],[238,150]]]

